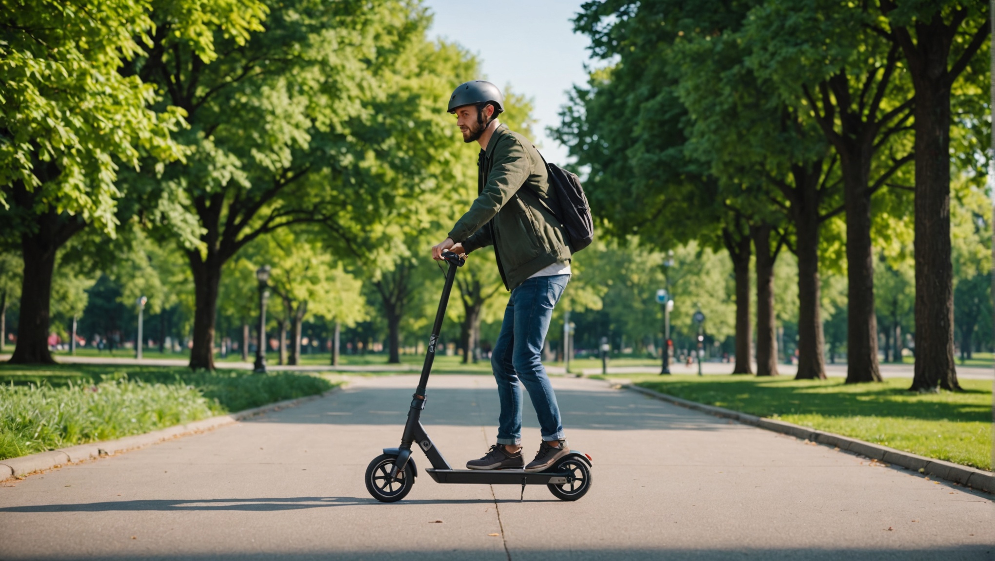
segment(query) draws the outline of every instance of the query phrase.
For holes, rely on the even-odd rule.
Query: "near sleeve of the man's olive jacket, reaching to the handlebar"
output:
[[[491,221],[498,210],[511,200],[531,173],[531,162],[521,142],[513,135],[504,135],[495,146],[495,163],[488,182],[470,210],[450,230],[453,241],[467,241],[471,235]]]

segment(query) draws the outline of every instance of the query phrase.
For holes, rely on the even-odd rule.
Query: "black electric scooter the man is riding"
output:
[[[404,498],[411,491],[418,477],[418,469],[411,458],[412,444],[417,443],[428,458],[432,468],[425,470],[429,476],[440,484],[482,484],[482,485],[520,485],[521,496],[524,497],[526,485],[544,485],[554,496],[561,500],[577,500],[591,489],[591,457],[577,451],[561,458],[552,467],[543,472],[528,473],[524,470],[454,470],[449,462],[439,452],[439,448],[429,438],[421,423],[422,411],[425,409],[425,392],[432,371],[432,361],[435,359],[436,343],[442,331],[443,318],[446,316],[446,305],[449,294],[453,290],[453,279],[457,267],[466,262],[464,257],[444,251],[443,259],[449,263],[446,271],[446,284],[442,290],[442,300],[436,313],[435,324],[432,326],[432,337],[425,354],[425,364],[411,400],[408,411],[408,421],[404,425],[399,448],[384,448],[383,454],[377,456],[366,468],[366,491],[381,502],[395,502]]]

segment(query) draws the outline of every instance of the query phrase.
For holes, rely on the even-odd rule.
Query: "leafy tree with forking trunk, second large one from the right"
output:
[[[768,0],[744,26],[750,67],[808,114],[839,156],[847,217],[847,381],[881,380],[874,305],[872,196],[913,155],[902,144],[913,97],[899,49],[872,31],[867,5]],[[906,143],[907,144],[907,143]]]

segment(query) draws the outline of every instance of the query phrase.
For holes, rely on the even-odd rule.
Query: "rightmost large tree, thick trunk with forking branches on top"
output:
[[[989,3],[882,0],[915,90],[915,374],[911,389],[959,389],[950,261],[950,97],[989,35]],[[890,28],[890,29],[889,29]],[[980,77],[980,76],[979,76]]]

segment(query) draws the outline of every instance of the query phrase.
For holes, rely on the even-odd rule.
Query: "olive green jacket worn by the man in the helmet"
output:
[[[508,290],[544,267],[568,261],[566,232],[549,210],[557,208],[556,194],[532,143],[502,124],[477,166],[480,196],[449,236],[462,242],[467,253],[494,243],[497,269]]]

